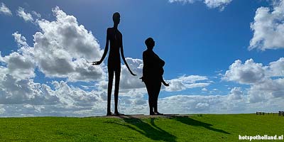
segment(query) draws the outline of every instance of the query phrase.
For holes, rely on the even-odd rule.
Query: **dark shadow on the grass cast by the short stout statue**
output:
[[[214,129],[214,128],[212,128],[212,124],[207,124],[207,123],[204,123],[202,121],[197,121],[195,119],[191,119],[188,116],[175,116],[175,117],[173,117],[173,119],[176,120],[176,121],[180,121],[183,124],[190,125],[190,126],[202,126],[205,129],[208,129],[208,130],[211,130],[211,131],[216,131],[216,132],[225,133],[225,134],[231,134],[231,133],[228,133],[228,132],[221,130],[221,129]]]

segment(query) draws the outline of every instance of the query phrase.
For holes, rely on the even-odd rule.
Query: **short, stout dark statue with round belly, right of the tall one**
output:
[[[147,38],[145,44],[147,50],[143,52],[143,77],[141,79],[146,84],[150,115],[163,115],[158,112],[158,96],[162,83],[169,86],[163,80],[165,62],[154,53],[155,41],[153,38]]]

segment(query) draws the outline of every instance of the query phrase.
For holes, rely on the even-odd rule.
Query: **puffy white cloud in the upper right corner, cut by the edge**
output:
[[[274,1],[273,9],[260,7],[256,10],[251,30],[253,38],[249,50],[284,48],[284,0]]]

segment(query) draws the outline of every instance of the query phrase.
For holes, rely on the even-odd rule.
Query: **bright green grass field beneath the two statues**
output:
[[[0,141],[239,141],[241,136],[283,135],[283,116],[203,114],[115,119],[1,118]]]

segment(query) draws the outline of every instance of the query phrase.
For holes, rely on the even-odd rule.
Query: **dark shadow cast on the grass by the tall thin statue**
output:
[[[132,116],[121,116],[121,119],[123,119],[126,124],[120,124],[116,122],[111,123],[126,126],[129,129],[138,131],[144,136],[151,138],[155,141],[176,141],[176,136],[173,136],[172,134],[168,133],[167,131],[164,131],[163,129],[160,129],[158,126],[155,125],[154,118],[151,119],[151,125],[142,121],[141,119],[137,119]]]

